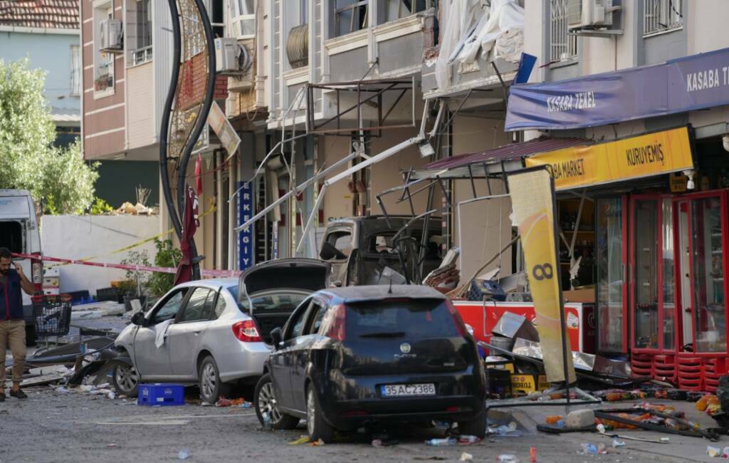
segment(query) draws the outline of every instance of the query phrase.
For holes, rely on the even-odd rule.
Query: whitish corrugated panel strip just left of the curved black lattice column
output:
[[[162,112],[172,74],[172,17],[166,1],[152,1],[152,60],[155,63],[155,133],[159,136]]]

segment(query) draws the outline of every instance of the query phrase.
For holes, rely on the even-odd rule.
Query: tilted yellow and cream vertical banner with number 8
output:
[[[509,176],[514,222],[519,228],[524,261],[534,300],[534,320],[547,381],[575,381],[572,351],[564,322],[557,238],[554,181],[545,168]],[[566,364],[565,364],[566,362]]]

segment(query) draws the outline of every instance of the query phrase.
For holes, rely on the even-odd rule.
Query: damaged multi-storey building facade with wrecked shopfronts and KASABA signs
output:
[[[156,8],[153,23],[168,20]],[[629,355],[636,373],[685,388],[712,389],[726,373],[729,39],[713,33],[725,2],[230,0],[210,12],[219,37],[242,47],[219,62],[218,99],[241,146],[227,163],[213,135],[200,151],[203,210],[217,206],[196,236],[203,268],[313,257],[324,242],[348,262],[359,243],[330,223],[434,211],[441,233],[428,243],[441,257],[459,247],[462,282],[477,274],[522,294],[506,179],[547,166],[579,349]],[[165,29],[152,30],[162,60]],[[166,83],[160,61],[155,85],[131,85],[143,65],[114,71],[114,85],[130,88],[117,93]],[[91,91],[93,104],[108,92]],[[134,108],[113,98],[120,123],[157,114],[155,98]],[[87,157],[130,155],[122,133],[158,126],[149,120],[99,127],[95,146],[87,133]],[[528,305],[520,297],[511,303]],[[486,332],[499,316],[477,310],[483,323],[467,322]]]

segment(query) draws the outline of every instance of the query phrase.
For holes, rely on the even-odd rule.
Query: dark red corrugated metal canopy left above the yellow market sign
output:
[[[521,159],[522,157],[529,157],[542,152],[554,151],[555,149],[577,147],[592,143],[593,141],[590,139],[539,138],[530,141],[523,141],[521,143],[507,144],[503,147],[487,149],[482,152],[447,157],[445,159],[426,164],[426,166],[424,166],[421,170],[441,171],[443,169],[464,167],[473,164],[497,163],[502,160]]]

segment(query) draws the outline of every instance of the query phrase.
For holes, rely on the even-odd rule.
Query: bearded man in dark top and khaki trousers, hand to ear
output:
[[[15,269],[11,268],[15,266]],[[12,352],[12,388],[10,396],[26,399],[20,389],[26,366],[26,320],[23,318],[23,296],[34,291],[33,283],[20,264],[12,262],[9,249],[0,247],[0,402],[5,401],[5,349]]]

